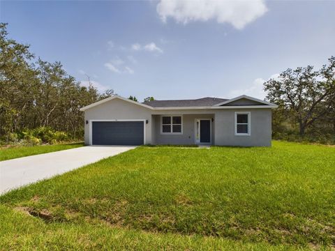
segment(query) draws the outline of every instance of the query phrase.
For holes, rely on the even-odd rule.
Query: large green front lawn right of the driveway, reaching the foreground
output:
[[[142,146],[0,197],[0,248],[334,248],[334,177],[328,146]]]

